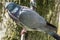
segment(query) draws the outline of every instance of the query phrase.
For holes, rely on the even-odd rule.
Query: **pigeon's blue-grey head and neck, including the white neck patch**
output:
[[[18,17],[18,15],[19,15],[18,12],[19,12],[20,8],[21,8],[20,5],[17,5],[14,2],[6,2],[6,4],[5,4],[5,9],[8,10],[8,13],[10,16],[13,15],[15,17]]]

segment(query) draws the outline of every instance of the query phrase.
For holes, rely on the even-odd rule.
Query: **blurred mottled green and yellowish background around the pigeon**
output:
[[[6,17],[5,16],[6,12],[3,7],[3,3],[15,2],[19,5],[30,7],[30,1],[31,0],[0,0],[0,2],[2,2],[2,4],[0,3],[0,23],[2,23],[3,18]],[[58,26],[57,20],[58,20],[59,6],[57,3],[59,3],[59,1],[58,2],[57,1],[58,0],[35,0],[36,8],[34,8],[36,12],[38,12],[49,23],[55,26]],[[16,23],[12,21],[12,19],[8,19],[5,28],[6,28],[6,32],[5,32],[5,37],[3,37],[4,40],[20,40],[20,36],[21,36],[20,32],[22,28],[16,25]],[[52,36],[48,35],[47,33],[42,33],[37,31],[36,32],[28,31],[27,35],[28,35],[27,40],[55,40]]]

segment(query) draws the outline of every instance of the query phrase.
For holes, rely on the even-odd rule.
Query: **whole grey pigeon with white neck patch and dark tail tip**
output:
[[[27,31],[42,31],[60,40],[60,36],[56,34],[56,26],[48,23],[36,11],[14,2],[6,2],[5,8],[8,10],[9,16],[18,25],[23,25],[25,32]],[[22,31],[23,32],[23,31]]]

